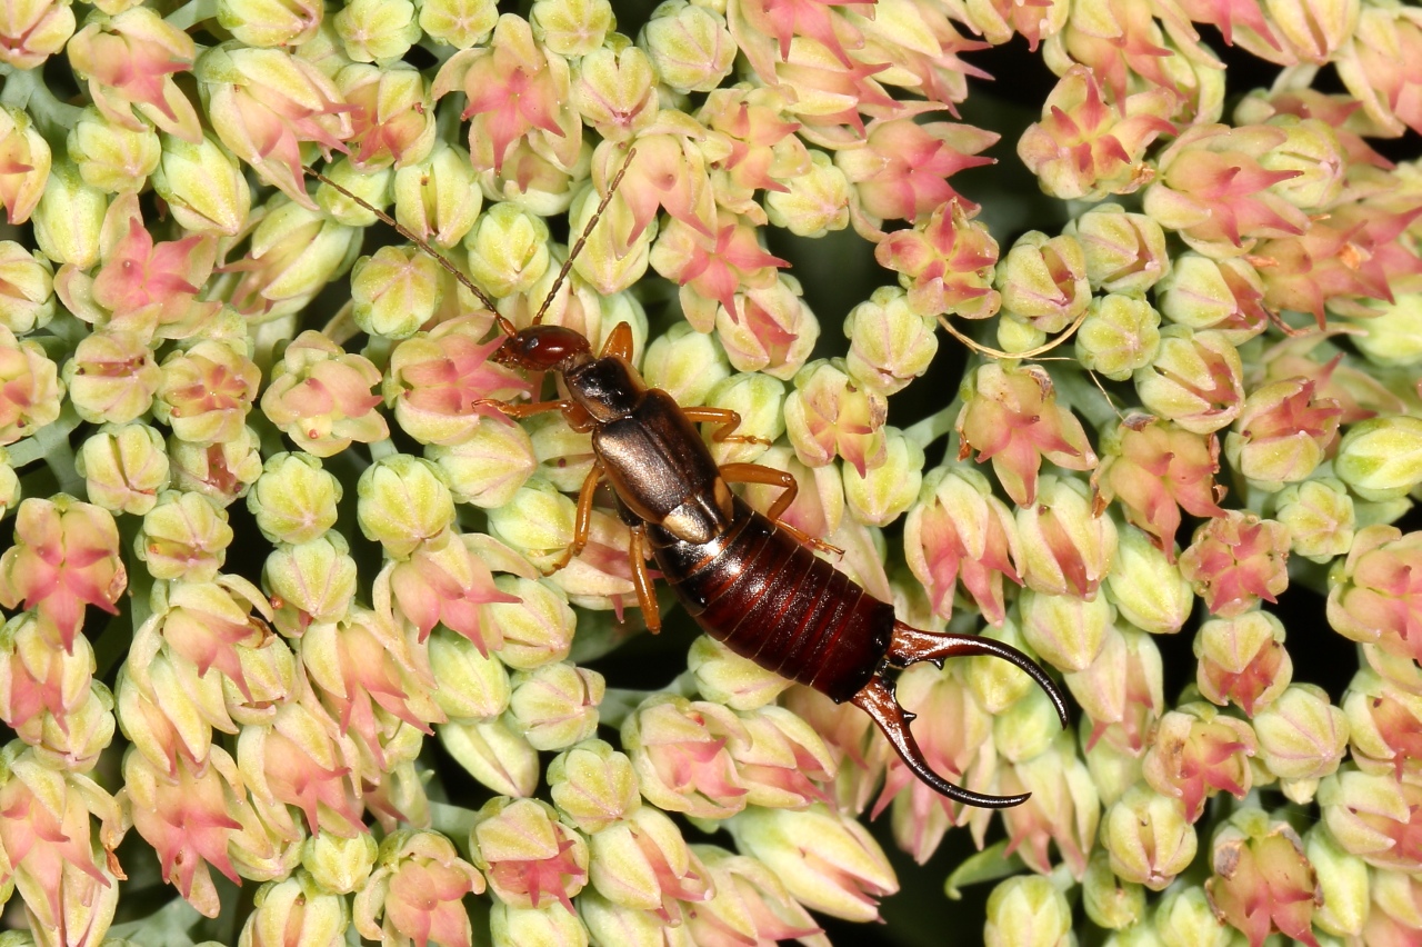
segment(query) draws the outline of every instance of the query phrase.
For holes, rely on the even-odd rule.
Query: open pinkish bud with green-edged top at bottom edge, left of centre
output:
[[[483,876],[438,832],[401,829],[380,845],[380,860],[356,894],[353,916],[361,937],[411,938],[469,947],[474,931],[461,904],[483,893]]]

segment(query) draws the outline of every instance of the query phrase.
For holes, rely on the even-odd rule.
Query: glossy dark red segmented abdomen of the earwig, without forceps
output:
[[[657,567],[711,637],[836,702],[883,665],[893,606],[815,556],[785,529],[735,501],[732,526],[707,543],[647,525]]]

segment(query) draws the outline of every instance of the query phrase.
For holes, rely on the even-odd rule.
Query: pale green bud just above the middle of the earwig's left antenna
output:
[[[458,245],[482,205],[469,152],[458,145],[437,141],[422,162],[395,171],[395,220],[435,246]]]

